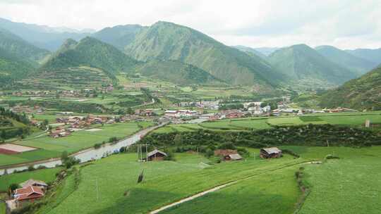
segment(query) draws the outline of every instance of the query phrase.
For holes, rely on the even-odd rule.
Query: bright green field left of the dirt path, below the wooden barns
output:
[[[142,164],[135,159],[135,154],[116,155],[83,168],[78,189],[42,213],[147,213],[219,184],[301,162],[289,156],[272,161],[249,158],[205,168],[201,162],[207,160],[193,154],[176,155],[176,162]],[[136,184],[142,170],[145,182]]]

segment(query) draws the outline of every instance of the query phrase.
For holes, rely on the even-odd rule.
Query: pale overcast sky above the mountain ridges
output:
[[[165,20],[251,47],[380,48],[380,11],[381,0],[0,0],[0,17],[16,22],[100,30]]]

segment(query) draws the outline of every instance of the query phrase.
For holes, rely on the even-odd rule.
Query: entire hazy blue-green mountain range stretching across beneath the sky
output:
[[[26,59],[25,63],[35,64],[32,68],[45,71],[90,65],[113,78],[119,73],[140,73],[178,84],[223,82],[263,90],[298,82],[327,88],[359,77],[381,63],[381,49],[343,51],[333,46],[313,49],[305,44],[282,49],[231,47],[197,30],[167,22],[149,27],[118,25],[94,33],[4,19],[0,24],[6,28],[0,32],[4,61]],[[49,60],[47,49],[56,51]],[[10,77],[14,70],[9,68],[11,64],[0,65],[0,71]]]

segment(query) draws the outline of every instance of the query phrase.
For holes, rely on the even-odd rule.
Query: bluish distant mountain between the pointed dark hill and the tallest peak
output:
[[[136,34],[143,28],[141,25],[117,25],[115,27],[106,27],[91,36],[123,50],[125,46],[133,42]]]

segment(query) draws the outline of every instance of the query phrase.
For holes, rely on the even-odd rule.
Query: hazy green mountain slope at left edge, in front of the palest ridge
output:
[[[32,62],[39,62],[49,54],[49,51],[37,48],[15,34],[0,28],[0,47],[6,51],[6,55],[11,54],[16,58],[28,59]]]

